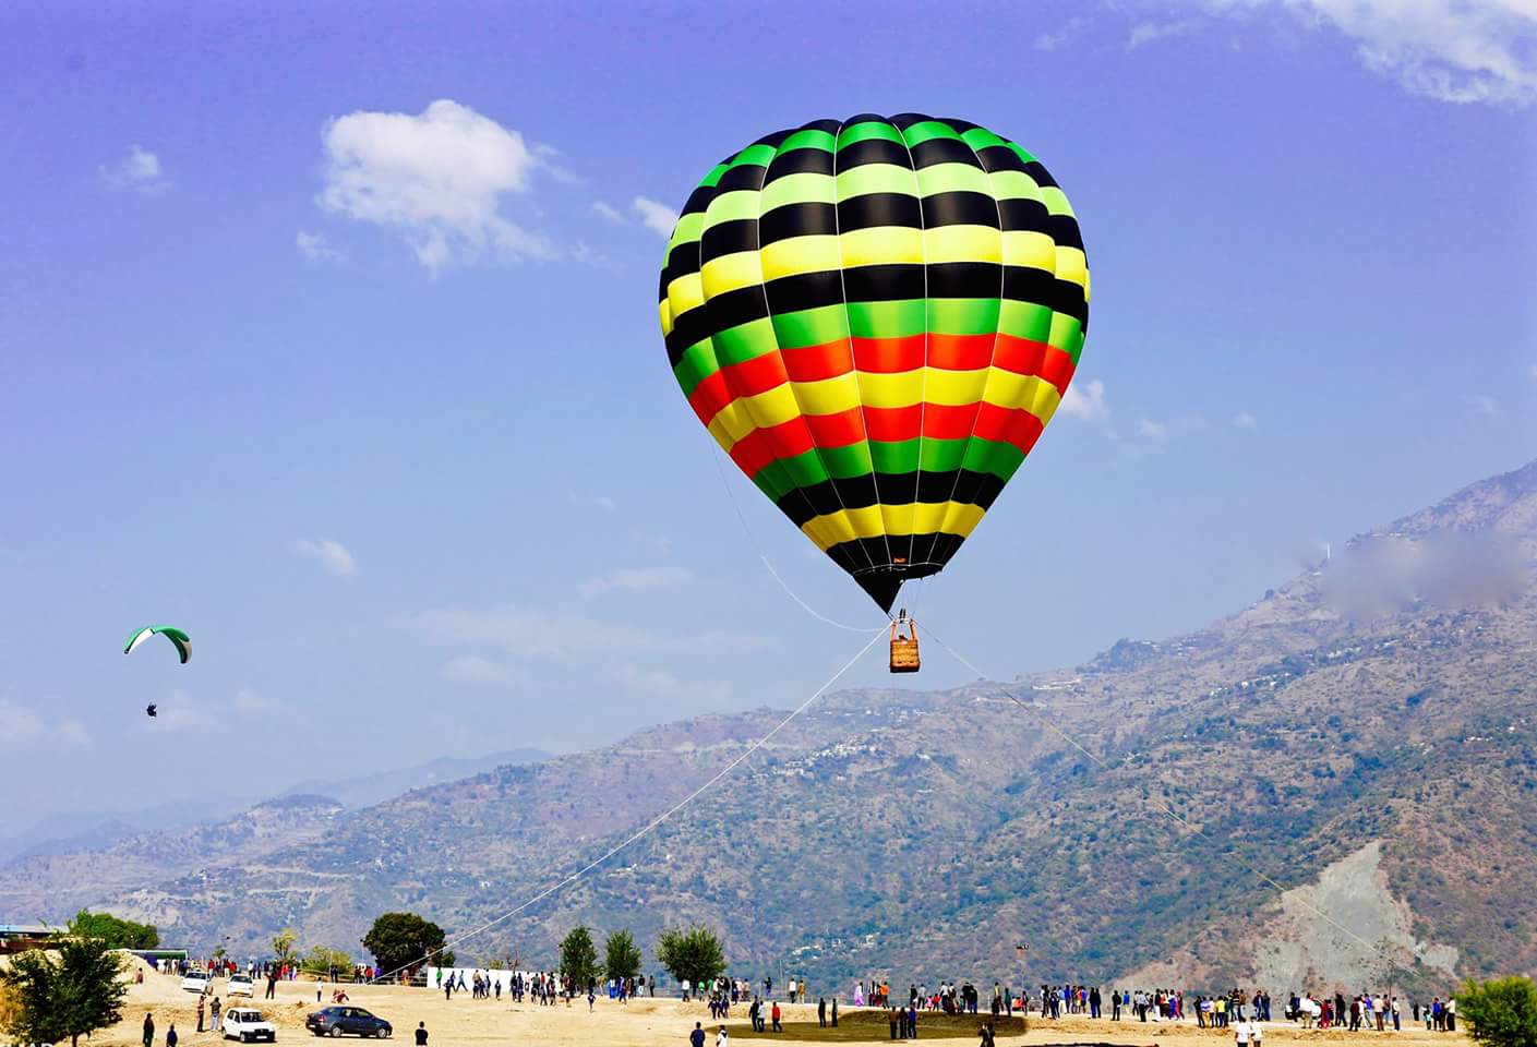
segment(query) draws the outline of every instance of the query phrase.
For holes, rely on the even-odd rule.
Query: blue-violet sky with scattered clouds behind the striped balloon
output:
[[[1084,228],[1073,409],[907,598],[994,675],[1537,457],[1529,0],[11,5],[0,92],[15,818],[827,678],[861,641],[758,546],[881,620],[722,486],[655,318],[669,209],[816,117],[994,128]],[[124,660],[144,621],[194,661]]]

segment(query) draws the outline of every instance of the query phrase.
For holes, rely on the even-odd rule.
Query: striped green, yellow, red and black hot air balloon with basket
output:
[[[673,229],[659,312],[699,421],[890,612],[1051,421],[1088,268],[1030,152],[964,120],[862,114],[716,165]]]

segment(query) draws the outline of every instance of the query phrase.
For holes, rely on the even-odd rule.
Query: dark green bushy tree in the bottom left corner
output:
[[[123,1015],[124,961],[100,938],[66,938],[57,958],[32,949],[0,969],[9,996],[8,1033],[34,1044],[78,1044]]]

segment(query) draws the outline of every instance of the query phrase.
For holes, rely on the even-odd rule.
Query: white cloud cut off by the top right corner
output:
[[[1537,101],[1532,0],[1210,0],[1237,12],[1280,3],[1356,43],[1362,63],[1405,89],[1454,103]]]

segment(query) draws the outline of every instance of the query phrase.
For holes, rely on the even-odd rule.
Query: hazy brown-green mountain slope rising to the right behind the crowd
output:
[[[744,969],[822,986],[1017,981],[1016,942],[1031,981],[1136,972],[1279,992],[1389,969],[1399,986],[1537,972],[1534,553],[1537,463],[1188,637],[1122,641],[1007,690],[832,695],[696,807],[460,955],[549,961],[575,922],[649,944],[664,922],[709,919]],[[171,939],[231,935],[237,952],[284,924],[355,950],[395,907],[469,929],[603,853],[779,715],[498,769],[258,861],[100,893]]]

